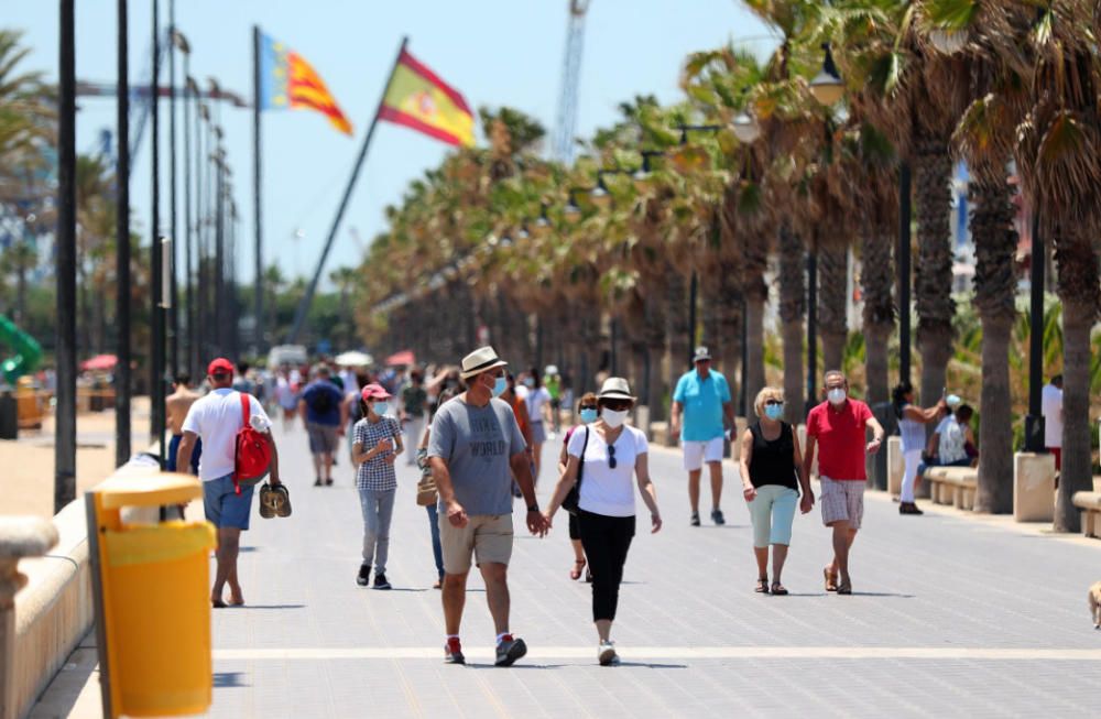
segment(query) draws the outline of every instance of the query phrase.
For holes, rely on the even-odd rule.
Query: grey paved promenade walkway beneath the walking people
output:
[[[254,516],[246,535],[248,606],[214,614],[212,717],[1078,717],[1101,707],[1101,632],[1086,598],[1101,579],[1101,542],[900,516],[872,492],[852,597],[824,591],[830,544],[817,506],[796,518],[784,576],[792,595],[754,595],[733,467],[728,525],[694,529],[679,454],[659,447],[651,466],[666,526],[651,535],[640,523],[628,559],[613,631],[623,664],[596,664],[589,587],[568,579],[560,514],[547,538],[515,545],[512,629],[527,657],[492,666],[493,630],[471,575],[470,664],[448,666],[414,469],[399,459],[394,589],[374,591],[355,584],[361,525],[347,455],[336,486],[315,489],[305,433],[281,435],[280,447],[294,516]],[[545,449],[544,503],[557,447]]]

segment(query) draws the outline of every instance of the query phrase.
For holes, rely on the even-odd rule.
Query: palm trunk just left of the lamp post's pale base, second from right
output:
[[[1005,182],[977,176],[971,183],[971,237],[975,246],[974,305],[982,322],[982,390],[979,428],[978,512],[1013,511],[1013,417],[1010,341],[1016,322],[1013,206]],[[928,403],[928,400],[926,400]]]

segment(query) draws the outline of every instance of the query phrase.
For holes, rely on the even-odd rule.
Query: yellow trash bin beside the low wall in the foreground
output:
[[[120,470],[88,494],[105,717],[192,715],[211,699],[208,522],[126,524],[201,497],[186,475]]]

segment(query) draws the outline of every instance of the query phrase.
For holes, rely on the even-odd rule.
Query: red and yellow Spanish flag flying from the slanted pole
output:
[[[475,118],[467,101],[404,50],[386,86],[379,119],[404,124],[448,144],[475,144]]]

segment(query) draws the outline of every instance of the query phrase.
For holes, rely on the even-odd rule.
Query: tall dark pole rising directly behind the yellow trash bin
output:
[[[127,0],[118,2],[118,81],[116,87],[116,134],[118,165],[116,167],[115,257],[117,347],[115,355],[115,466],[130,459],[130,64]]]

